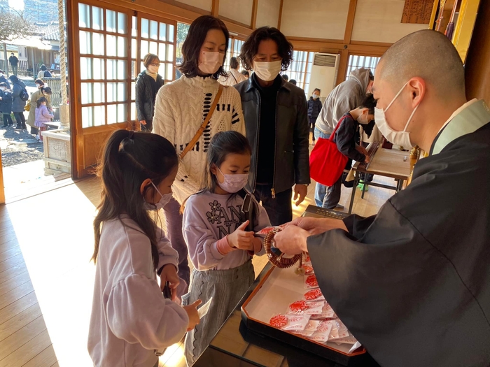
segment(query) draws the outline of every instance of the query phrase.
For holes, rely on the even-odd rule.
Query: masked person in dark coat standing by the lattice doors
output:
[[[141,130],[152,131],[155,98],[164,80],[158,73],[160,59],[157,55],[146,54],[143,64],[146,70],[141,71],[136,78],[136,110]]]

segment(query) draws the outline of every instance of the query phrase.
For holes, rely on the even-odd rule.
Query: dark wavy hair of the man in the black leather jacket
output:
[[[255,29],[241,46],[239,59],[246,70],[253,69],[253,57],[257,55],[258,45],[265,40],[272,40],[277,45],[277,52],[282,58],[281,71],[286,71],[293,61],[293,45],[287,40],[281,31],[273,27],[261,27]]]

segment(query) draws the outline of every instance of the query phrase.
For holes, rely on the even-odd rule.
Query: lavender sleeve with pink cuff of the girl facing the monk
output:
[[[199,206],[194,205],[194,198],[195,196],[189,198],[184,210],[183,236],[193,265],[197,270],[204,271],[214,268],[226,254],[238,249],[230,246],[228,236],[221,240],[215,238],[213,231],[207,228],[208,218],[203,218]]]

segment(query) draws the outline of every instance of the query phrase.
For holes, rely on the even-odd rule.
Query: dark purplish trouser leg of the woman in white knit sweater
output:
[[[181,205],[176,199],[170,199],[169,203],[163,207],[165,213],[165,222],[167,223],[167,238],[169,238],[172,247],[179,252],[179,277],[186,281],[186,287],[183,289],[180,285],[177,289],[178,295],[182,296],[188,292],[190,284],[190,269],[187,259],[189,251],[186,240],[182,234],[182,215],[180,213]]]

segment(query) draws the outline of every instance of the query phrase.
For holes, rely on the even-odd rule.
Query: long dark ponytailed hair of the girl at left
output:
[[[156,222],[144,207],[146,190],[155,190],[148,185],[141,195],[141,184],[150,178],[158,186],[179,164],[175,148],[162,136],[144,132],[116,130],[109,137],[97,175],[102,180],[102,201],[94,220],[94,254],[99,254],[102,225],[109,220],[127,215],[139,231],[150,239],[153,267],[158,267]]]

